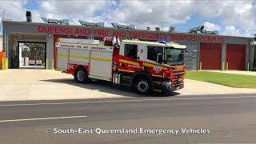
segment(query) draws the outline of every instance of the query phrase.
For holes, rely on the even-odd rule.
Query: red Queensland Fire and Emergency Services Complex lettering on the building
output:
[[[171,41],[198,41],[198,35],[190,34],[163,34],[155,32],[143,32],[143,31],[122,31],[122,30],[90,30],[87,28],[71,28],[62,26],[38,26],[39,33],[50,34],[73,34],[73,35],[85,35],[90,33],[94,37],[120,37],[120,38],[134,38],[140,40],[168,40]],[[214,36],[200,36],[200,42],[218,42],[223,43],[224,38]]]

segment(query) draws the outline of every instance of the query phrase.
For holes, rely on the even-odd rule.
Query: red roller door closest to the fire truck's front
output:
[[[222,44],[201,42],[199,60],[202,70],[221,70]]]

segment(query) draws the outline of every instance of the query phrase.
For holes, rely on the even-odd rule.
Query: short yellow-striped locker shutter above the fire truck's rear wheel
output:
[[[70,49],[69,62],[89,63],[89,50]]]

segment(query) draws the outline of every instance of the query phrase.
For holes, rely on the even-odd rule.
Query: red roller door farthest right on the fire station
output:
[[[246,45],[226,45],[226,62],[229,70],[246,69]]]

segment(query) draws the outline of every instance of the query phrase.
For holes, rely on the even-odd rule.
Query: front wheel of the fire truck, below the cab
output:
[[[138,94],[141,94],[141,95],[149,94],[151,91],[150,80],[149,78],[146,78],[146,77],[138,78],[134,86]]]

